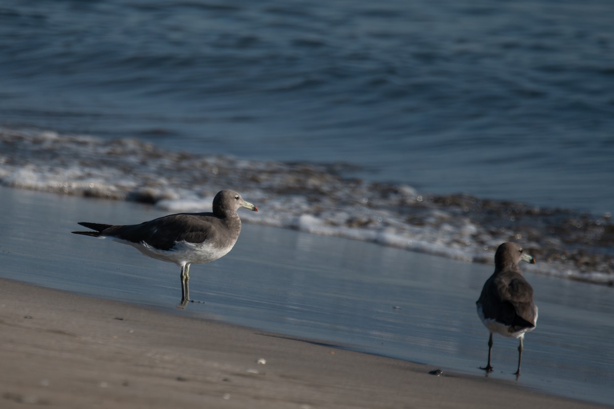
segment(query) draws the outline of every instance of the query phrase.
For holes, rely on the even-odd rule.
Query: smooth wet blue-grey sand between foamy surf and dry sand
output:
[[[428,364],[422,374],[441,368],[483,380],[478,367],[485,363],[488,332],[475,314],[475,299],[492,267],[245,224],[230,254],[195,266],[190,292],[203,304],[179,311],[174,308],[181,295],[175,266],[128,246],[70,233],[76,221],[142,221],[161,213],[130,202],[0,186],[0,277],[145,305],[207,326],[215,321],[257,328],[258,334],[286,334],[286,339],[316,338],[338,352],[400,359],[397,365]],[[538,294],[540,321],[525,342],[523,375],[518,381],[511,375],[517,343],[499,337],[495,372],[481,388],[508,383],[518,390],[611,405],[611,288],[527,274]],[[26,299],[24,306],[30,300],[21,297]],[[0,304],[6,304],[1,294]],[[26,314],[18,321],[31,321],[23,319]],[[250,355],[242,371],[255,359]],[[388,391],[397,393],[394,389]],[[24,399],[7,393],[10,399]]]

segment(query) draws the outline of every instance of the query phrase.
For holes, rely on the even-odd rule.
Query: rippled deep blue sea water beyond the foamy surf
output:
[[[0,4],[0,125],[604,213],[608,0]]]

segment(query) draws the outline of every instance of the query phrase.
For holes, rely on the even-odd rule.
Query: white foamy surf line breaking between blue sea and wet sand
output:
[[[343,165],[253,161],[167,151],[136,139],[0,130],[0,183],[14,188],[210,210],[222,188],[257,203],[244,221],[363,240],[470,262],[516,241],[540,261],[526,270],[614,283],[610,215],[416,192],[343,177]],[[117,223],[125,221],[117,221]]]

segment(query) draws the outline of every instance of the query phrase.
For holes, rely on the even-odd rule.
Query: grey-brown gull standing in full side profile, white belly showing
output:
[[[184,308],[190,301],[190,264],[219,259],[233,248],[241,232],[239,207],[258,211],[235,191],[222,190],[213,199],[212,213],[179,213],[128,226],[79,223],[95,231],[73,233],[112,237],[146,256],[177,264],[181,267],[181,303],[177,307]]]

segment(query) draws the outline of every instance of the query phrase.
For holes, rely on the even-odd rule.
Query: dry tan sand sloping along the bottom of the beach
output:
[[[3,279],[0,343],[1,408],[599,407]]]

